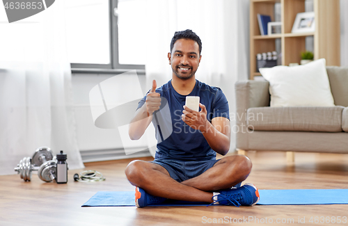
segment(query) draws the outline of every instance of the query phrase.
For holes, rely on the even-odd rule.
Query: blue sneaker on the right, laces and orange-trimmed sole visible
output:
[[[260,200],[258,188],[253,184],[244,184],[235,189],[224,189],[218,193],[214,192],[212,204],[251,206]]]

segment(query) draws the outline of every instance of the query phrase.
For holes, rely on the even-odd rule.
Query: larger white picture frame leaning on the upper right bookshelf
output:
[[[297,13],[291,33],[307,33],[315,31],[314,12]]]

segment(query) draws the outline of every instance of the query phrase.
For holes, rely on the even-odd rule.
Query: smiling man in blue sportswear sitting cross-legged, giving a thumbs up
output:
[[[152,121],[157,137],[155,160],[132,161],[125,170],[136,186],[137,207],[166,199],[237,206],[258,202],[253,184],[240,186],[251,171],[251,161],[239,155],[216,160],[216,152],[225,155],[230,148],[228,102],[220,88],[195,79],[201,49],[193,31],[175,32],[168,53],[173,77],[160,88],[152,82],[129,125],[129,137],[137,140]],[[187,96],[200,97],[199,112],[184,106]],[[163,102],[170,113],[160,110]],[[168,118],[173,131],[166,138],[161,131],[168,125],[159,122]]]

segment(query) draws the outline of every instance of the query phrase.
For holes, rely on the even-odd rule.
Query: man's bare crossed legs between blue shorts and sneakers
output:
[[[168,171],[156,163],[135,160],[125,173],[129,182],[143,188],[150,195],[191,202],[213,202],[212,191],[230,188],[244,181],[251,171],[246,156],[228,156],[198,177],[177,182]]]

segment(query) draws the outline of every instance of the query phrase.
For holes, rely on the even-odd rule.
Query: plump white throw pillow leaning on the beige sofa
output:
[[[260,68],[271,106],[335,106],[324,58],[294,67]]]

